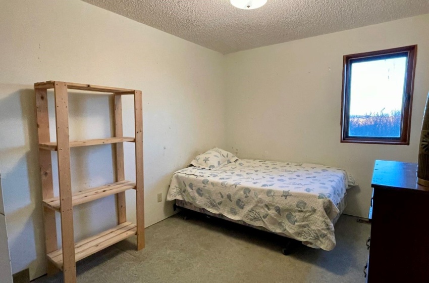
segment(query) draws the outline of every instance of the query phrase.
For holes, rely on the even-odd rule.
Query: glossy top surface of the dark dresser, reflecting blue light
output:
[[[372,175],[374,188],[407,188],[429,193],[429,187],[417,184],[417,164],[376,160]]]

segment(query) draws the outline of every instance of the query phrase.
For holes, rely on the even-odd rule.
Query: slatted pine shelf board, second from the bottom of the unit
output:
[[[72,203],[73,206],[76,206],[79,204],[92,202],[107,196],[135,189],[135,187],[135,183],[127,180],[94,187],[89,190],[79,191],[78,193],[74,194],[72,196]],[[61,209],[59,197],[43,200],[43,205],[56,211],[60,211]]]

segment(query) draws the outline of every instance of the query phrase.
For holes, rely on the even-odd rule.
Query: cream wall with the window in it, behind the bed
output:
[[[374,160],[417,162],[429,91],[429,14],[226,56],[227,150],[323,163],[359,182],[345,213],[367,217]],[[340,143],[343,55],[418,44],[409,146]]]

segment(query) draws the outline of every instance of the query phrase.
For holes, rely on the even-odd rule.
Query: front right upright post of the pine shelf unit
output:
[[[137,250],[144,248],[144,179],[143,179],[143,101],[140,90],[134,92],[136,135]]]

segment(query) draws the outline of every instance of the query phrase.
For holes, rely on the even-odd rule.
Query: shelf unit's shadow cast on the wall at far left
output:
[[[34,277],[45,266],[36,260],[44,257],[44,235],[32,86],[0,84],[0,118],[0,170],[12,271],[29,267]]]

